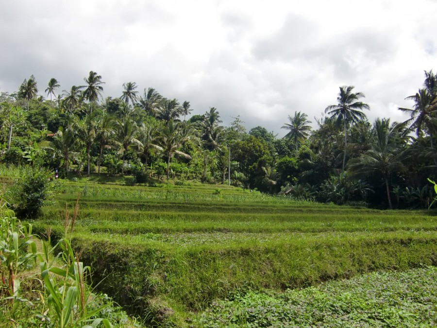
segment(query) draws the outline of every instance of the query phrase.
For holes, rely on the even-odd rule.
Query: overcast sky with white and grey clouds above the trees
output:
[[[103,97],[135,82],[282,137],[288,115],[316,128],[355,86],[370,121],[403,121],[397,108],[437,70],[436,13],[436,0],[2,1],[0,91],[33,74],[39,94],[52,77],[62,92],[93,70]]]

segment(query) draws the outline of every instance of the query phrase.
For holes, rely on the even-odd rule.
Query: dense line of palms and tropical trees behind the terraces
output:
[[[44,96],[32,75],[16,93],[0,93],[0,160],[45,166],[59,174],[92,172],[200,180],[290,197],[371,207],[428,207],[437,152],[437,77],[425,71],[403,122],[370,122],[365,96],[341,86],[317,128],[302,111],[288,116],[284,138],[239,116],[221,125],[218,109],[191,114],[188,101],[152,87],[122,85],[102,99],[104,82],[90,71],[81,86],[59,92],[51,78]],[[334,99],[334,97],[333,97]],[[190,116],[187,119],[187,116]],[[229,157],[231,156],[231,157]],[[228,173],[229,170],[229,173]],[[72,172],[73,171],[73,172]],[[228,174],[230,180],[228,181]]]

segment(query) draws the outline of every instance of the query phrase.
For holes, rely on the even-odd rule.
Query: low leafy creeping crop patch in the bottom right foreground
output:
[[[235,294],[196,320],[201,327],[435,327],[437,268],[371,273],[284,293]]]

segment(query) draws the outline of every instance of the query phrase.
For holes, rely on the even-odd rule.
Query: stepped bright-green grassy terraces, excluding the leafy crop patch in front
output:
[[[44,235],[50,226],[52,238],[60,236],[80,194],[72,238],[81,259],[95,281],[104,278],[101,291],[156,325],[202,326],[192,321],[197,313],[247,291],[437,264],[436,211],[338,207],[188,183],[57,188],[35,230]]]

